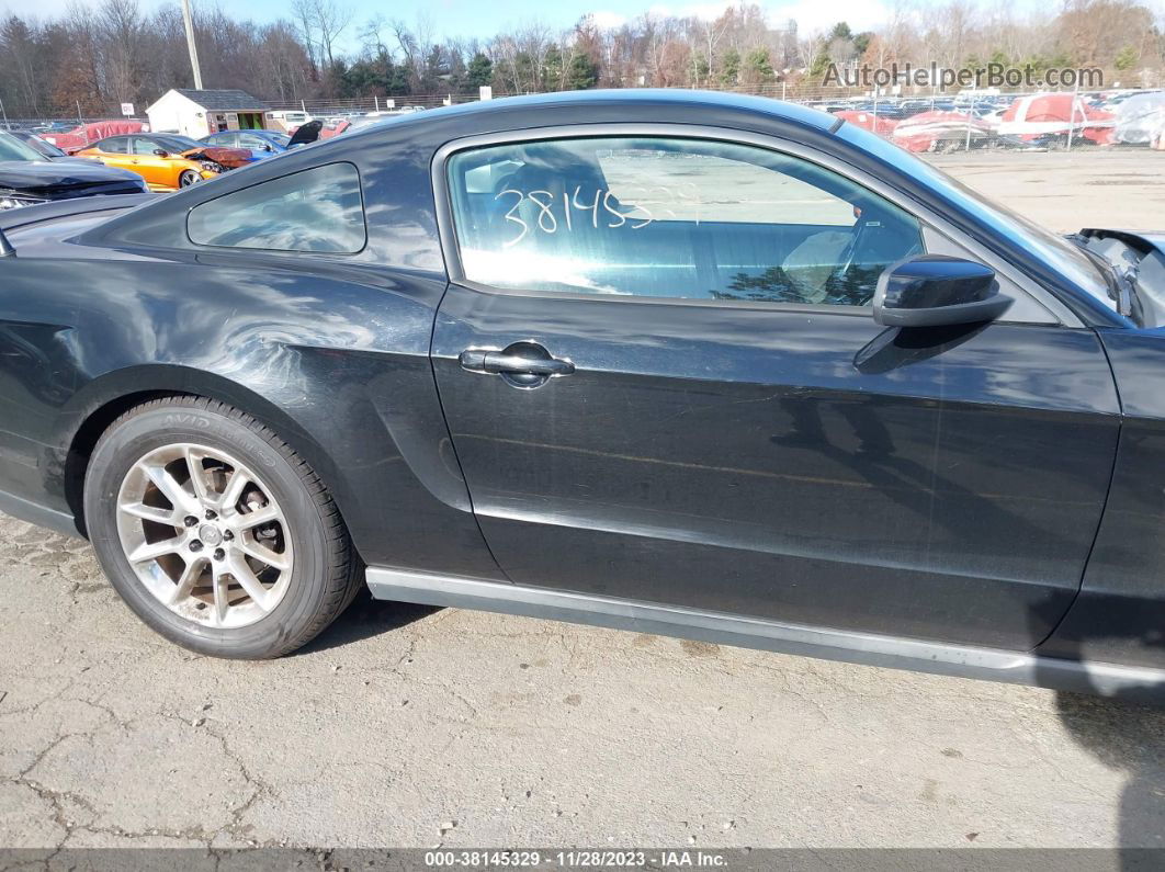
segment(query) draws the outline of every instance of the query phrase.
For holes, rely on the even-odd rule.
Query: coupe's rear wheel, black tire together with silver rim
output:
[[[246,488],[238,494],[235,474]],[[225,482],[220,490],[217,482]],[[121,598],[155,631],[202,654],[288,654],[360,588],[359,559],[319,477],[268,427],[218,400],[165,397],[118,418],[93,451],[84,506]],[[198,506],[214,510],[196,517]],[[252,512],[275,519],[252,524]],[[158,548],[169,551],[142,559]]]

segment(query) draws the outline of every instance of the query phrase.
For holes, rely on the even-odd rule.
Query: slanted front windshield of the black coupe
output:
[[[991,203],[942,170],[855,125],[843,125],[836,135],[875,157],[904,169],[927,187],[945,194],[946,199],[952,200],[975,220],[998,228],[1015,244],[1040,261],[1053,264],[1076,288],[1101,302],[1107,309],[1116,311],[1116,300],[1109,293],[1110,285],[1104,274],[1080,248],[1064,236],[1044,229],[1005,206]]]

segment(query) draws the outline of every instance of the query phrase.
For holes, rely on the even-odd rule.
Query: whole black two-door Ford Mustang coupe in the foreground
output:
[[[1165,689],[1165,260],[829,115],[426,112],[0,217],[0,508],[170,639],[367,582],[1106,694]]]

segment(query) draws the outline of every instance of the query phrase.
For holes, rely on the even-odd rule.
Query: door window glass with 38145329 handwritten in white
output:
[[[864,306],[918,221],[812,162],[664,137],[509,143],[449,161],[465,277],[571,293]]]

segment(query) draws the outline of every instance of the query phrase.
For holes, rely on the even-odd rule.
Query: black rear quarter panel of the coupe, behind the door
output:
[[[366,197],[380,186],[375,170],[368,179]],[[69,446],[82,420],[129,394],[205,394],[301,452],[367,562],[502,577],[429,362],[446,285],[436,234],[400,205],[415,192],[393,191],[375,194],[369,246],[351,258],[128,241],[22,248],[35,228],[14,232],[17,256],[0,262],[0,491],[72,512]],[[386,228],[397,211],[408,219]]]

